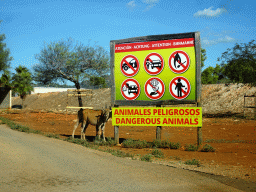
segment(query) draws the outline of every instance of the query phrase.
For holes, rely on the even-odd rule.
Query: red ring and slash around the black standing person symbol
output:
[[[176,87],[177,86],[177,83],[176,81],[178,79],[181,79],[183,81],[185,81],[185,83],[187,84],[187,91],[184,91],[181,87],[181,92],[183,93],[183,96],[179,97],[178,96],[178,93],[177,95],[173,92],[173,85]],[[177,87],[178,88],[178,87]],[[176,88],[176,89],[177,89]],[[179,88],[178,88],[179,89]],[[178,90],[177,90],[178,91]],[[175,98],[175,99],[178,99],[178,100],[182,100],[182,99],[185,99],[189,94],[190,94],[190,91],[191,91],[191,86],[190,86],[190,83],[189,81],[185,78],[185,77],[182,77],[182,76],[178,76],[178,77],[175,77],[171,80],[170,84],[169,84],[169,92],[170,94]]]

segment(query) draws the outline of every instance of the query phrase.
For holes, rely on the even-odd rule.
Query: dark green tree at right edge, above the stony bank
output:
[[[218,58],[224,68],[224,75],[236,83],[256,84],[256,44],[236,44]]]

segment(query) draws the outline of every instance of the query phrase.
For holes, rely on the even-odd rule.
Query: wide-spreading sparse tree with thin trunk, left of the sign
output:
[[[44,85],[69,80],[79,90],[83,79],[103,76],[109,72],[109,54],[103,47],[74,44],[71,39],[46,44],[36,59],[39,63],[33,68],[34,79]],[[80,96],[78,102],[82,107]]]

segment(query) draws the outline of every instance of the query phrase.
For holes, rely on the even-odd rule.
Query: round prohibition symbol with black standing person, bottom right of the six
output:
[[[191,90],[189,81],[185,77],[175,77],[171,80],[169,91],[171,95],[178,100],[185,99]]]

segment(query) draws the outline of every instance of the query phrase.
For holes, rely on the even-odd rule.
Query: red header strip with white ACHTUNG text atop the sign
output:
[[[177,47],[193,47],[194,45],[194,38],[117,44],[115,46],[115,53],[155,49],[169,49]]]

